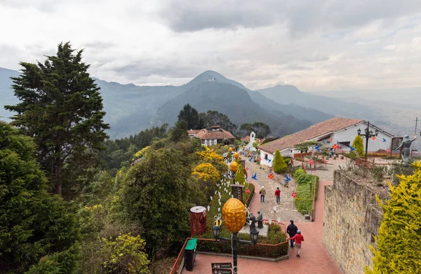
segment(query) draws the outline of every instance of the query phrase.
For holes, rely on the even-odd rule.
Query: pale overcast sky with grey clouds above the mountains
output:
[[[85,48],[91,75],[182,85],[212,69],[251,89],[421,86],[421,1],[0,0],[0,67]]]

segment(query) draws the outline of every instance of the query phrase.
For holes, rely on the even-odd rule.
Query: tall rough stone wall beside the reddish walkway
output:
[[[323,217],[323,244],[343,273],[364,273],[382,220],[375,193],[336,170],[333,186],[325,186]]]

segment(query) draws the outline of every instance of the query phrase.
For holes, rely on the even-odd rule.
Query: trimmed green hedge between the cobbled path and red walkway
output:
[[[313,209],[313,189],[314,175],[307,174],[305,170],[299,168],[294,172],[294,179],[297,183],[297,198],[295,207],[301,214],[309,214]],[[319,190],[319,177],[316,177],[316,195]],[[317,196],[316,196],[317,197]]]

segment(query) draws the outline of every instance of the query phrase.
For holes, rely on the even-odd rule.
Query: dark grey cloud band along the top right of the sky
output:
[[[375,20],[394,20],[421,10],[420,1],[287,1],[168,0],[158,9],[161,20],[175,32],[202,29],[255,28],[287,24],[291,36],[314,29],[347,29]]]

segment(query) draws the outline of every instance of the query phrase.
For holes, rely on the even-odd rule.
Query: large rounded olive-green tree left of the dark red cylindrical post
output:
[[[142,228],[149,254],[189,235],[189,208],[204,197],[191,174],[181,151],[160,149],[133,165],[123,181],[116,212]]]

